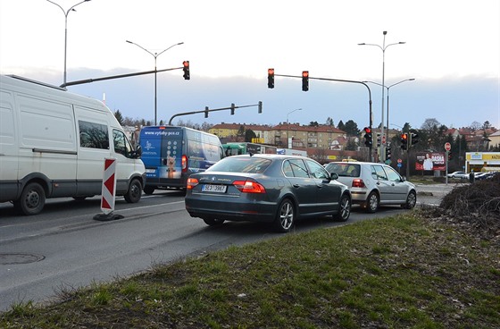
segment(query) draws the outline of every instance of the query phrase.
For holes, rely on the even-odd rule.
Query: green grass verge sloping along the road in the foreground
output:
[[[17,304],[2,328],[500,327],[500,247],[417,212],[188,258]]]

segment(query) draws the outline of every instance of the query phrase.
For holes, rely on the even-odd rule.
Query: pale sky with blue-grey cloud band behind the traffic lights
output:
[[[418,129],[436,119],[450,128],[489,122],[500,129],[498,0],[53,2],[0,0],[0,73],[59,86],[65,45],[68,81],[152,71],[154,54],[171,47],[157,55],[157,69],[188,60],[191,80],[176,69],[157,73],[156,89],[154,74],[68,87],[132,119],[154,122],[156,95],[158,122],[205,106],[262,101],[262,114],[248,106],[235,115],[194,114],[173,123],[309,124],[332,118],[336,125],[354,120],[362,129],[370,122],[370,99],[373,126],[382,116],[387,125],[388,87],[390,128],[409,122]],[[69,11],[74,4],[76,11]],[[277,76],[268,89],[268,68],[331,80],[312,79],[304,92],[300,79]],[[362,81],[376,83],[367,88]]]

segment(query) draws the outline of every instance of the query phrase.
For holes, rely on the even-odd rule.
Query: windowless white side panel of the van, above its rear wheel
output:
[[[50,94],[15,93],[19,110],[19,179],[48,179],[48,198],[76,191],[77,142],[70,103]]]

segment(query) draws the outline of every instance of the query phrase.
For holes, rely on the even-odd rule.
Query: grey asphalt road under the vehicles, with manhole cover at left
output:
[[[423,193],[418,202],[438,204],[452,187],[419,187]],[[382,207],[369,215],[354,207],[347,224],[404,211]],[[15,215],[12,205],[0,204],[0,312],[13,303],[51,300],[61,291],[127,277],[182,257],[280,236],[265,224],[209,227],[187,214],[184,196],[175,191],[143,196],[137,204],[117,198],[114,214],[123,215],[119,220],[96,221],[100,213],[99,198],[51,199],[35,216]],[[304,220],[295,232],[336,225],[329,218]]]

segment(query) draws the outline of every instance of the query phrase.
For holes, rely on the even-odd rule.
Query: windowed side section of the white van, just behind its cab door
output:
[[[107,115],[78,105],[75,105],[75,114],[79,133],[78,195],[100,195],[104,158],[111,156]]]

